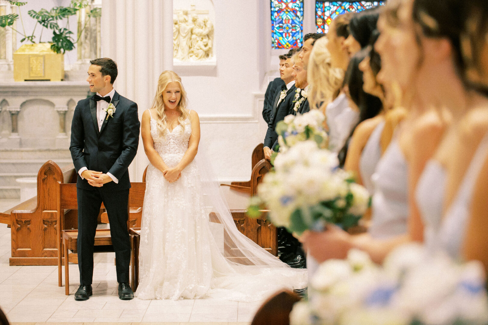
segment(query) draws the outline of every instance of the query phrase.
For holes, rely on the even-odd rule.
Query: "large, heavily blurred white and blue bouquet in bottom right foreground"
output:
[[[383,267],[351,249],[347,259],[320,265],[309,300],[295,304],[290,324],[486,325],[484,270],[418,244],[394,250]]]

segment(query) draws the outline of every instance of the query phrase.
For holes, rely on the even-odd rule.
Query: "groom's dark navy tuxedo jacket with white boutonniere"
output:
[[[112,98],[116,110],[113,117],[105,116],[99,132],[97,102],[93,96],[76,105],[71,124],[71,157],[76,172],[86,166],[88,170],[114,175],[119,183],[109,182],[99,189],[121,191],[130,189],[128,167],[137,153],[141,123],[137,104],[115,92]],[[96,189],[78,175],[77,187]]]

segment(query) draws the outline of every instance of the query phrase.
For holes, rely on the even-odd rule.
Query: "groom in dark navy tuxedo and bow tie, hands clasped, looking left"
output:
[[[127,230],[130,180],[128,167],[136,156],[140,122],[137,104],[113,88],[117,64],[110,58],[90,61],[88,77],[94,96],[78,102],[71,125],[71,157],[78,172],[78,267],[80,287],[75,300],[92,295],[93,247],[97,217],[103,204],[117,262],[119,298],[130,300],[130,242]]]

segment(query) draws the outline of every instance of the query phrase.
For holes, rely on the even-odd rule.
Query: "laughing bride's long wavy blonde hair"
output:
[[[156,122],[158,127],[158,132],[161,136],[164,136],[164,131],[168,128],[167,125],[167,117],[164,113],[164,102],[163,102],[163,92],[166,90],[166,87],[171,82],[177,82],[180,85],[180,102],[176,107],[176,110],[181,113],[180,117],[178,117],[178,124],[182,126],[182,132],[184,131],[185,123],[184,121],[188,118],[190,119],[190,115],[186,112],[185,108],[187,105],[186,99],[186,92],[183,88],[182,78],[176,74],[174,71],[166,70],[161,73],[158,79],[158,90],[156,91],[156,96],[154,96],[154,100],[151,106],[152,108],[156,109]]]

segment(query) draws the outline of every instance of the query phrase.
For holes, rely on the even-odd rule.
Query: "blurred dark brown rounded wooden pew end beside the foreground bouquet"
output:
[[[251,325],[289,325],[290,312],[300,297],[289,290],[280,291],[261,306],[252,320]]]

